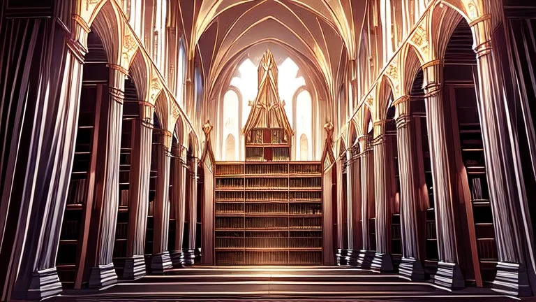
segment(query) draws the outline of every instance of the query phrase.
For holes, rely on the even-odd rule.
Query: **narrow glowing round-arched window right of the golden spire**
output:
[[[300,160],[311,160],[311,137],[313,122],[312,119],[312,100],[311,94],[307,90],[300,92],[296,98],[296,134],[299,137],[299,154]],[[306,145],[303,145],[304,142]]]

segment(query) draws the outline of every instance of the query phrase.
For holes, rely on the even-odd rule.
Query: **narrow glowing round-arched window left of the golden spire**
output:
[[[233,90],[225,92],[223,96],[223,137],[225,138],[225,146],[223,148],[225,154],[221,154],[221,158],[238,159],[237,137],[239,136],[238,126],[238,95]],[[233,148],[230,148],[229,140],[232,136]],[[232,150],[232,154],[228,154]]]

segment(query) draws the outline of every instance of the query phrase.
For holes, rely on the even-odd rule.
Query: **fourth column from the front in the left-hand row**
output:
[[[154,197],[154,239],[151,273],[164,273],[170,268],[171,258],[168,251],[168,231],[170,227],[170,149],[172,134],[163,133],[163,144],[156,150],[158,175],[156,176],[156,194]]]

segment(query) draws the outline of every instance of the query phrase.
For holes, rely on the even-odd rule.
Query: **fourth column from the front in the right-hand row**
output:
[[[374,124],[374,205],[376,253],[372,261],[375,271],[392,271],[393,261],[389,254],[387,230],[391,227],[389,205],[389,185],[387,183],[387,153],[385,152],[385,121]]]

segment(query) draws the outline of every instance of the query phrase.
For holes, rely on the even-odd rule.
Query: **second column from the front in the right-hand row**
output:
[[[438,232],[438,273],[434,282],[449,288],[463,288],[465,280],[458,261],[454,204],[445,125],[445,103],[442,94],[442,62],[424,64],[424,101],[429,134],[435,224]]]

